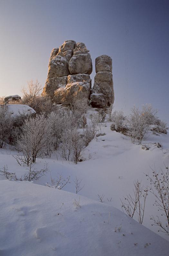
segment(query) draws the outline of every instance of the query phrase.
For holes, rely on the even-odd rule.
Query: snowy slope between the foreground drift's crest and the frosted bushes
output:
[[[169,134],[149,136],[143,143],[160,142],[162,148],[157,148],[152,144],[151,148],[146,151],[141,148],[141,145],[132,144],[130,138],[111,131],[109,126],[110,124],[107,123],[107,127],[102,127],[102,132],[106,135],[89,143],[82,155],[84,161],[77,165],[63,159],[57,160],[58,156],[53,155],[51,159],[37,159],[33,168],[42,169],[44,163],[48,162],[52,178],[55,179],[58,173],[62,173],[64,178],[70,175],[71,183],[65,186],[64,190],[75,193],[73,180],[77,176],[78,179],[82,179],[81,185],[85,184],[79,192],[80,195],[98,200],[97,195],[104,194],[104,202],[121,210],[120,198],[132,192],[134,180],[139,179],[144,186],[147,186],[148,181],[144,173],[152,174],[150,166],[155,166],[158,170],[164,168],[164,163],[169,164]],[[13,158],[13,155],[17,154],[12,150],[1,150],[0,168],[7,165],[9,171],[16,172],[17,176],[21,177],[28,170],[27,167],[19,166]],[[0,176],[0,179],[4,177]],[[46,182],[50,183],[50,172],[34,182],[41,185],[45,185]],[[111,202],[108,202],[107,198],[110,200],[111,197]],[[157,232],[158,228],[152,227],[150,220],[150,215],[159,215],[153,203],[154,197],[149,194],[143,225]],[[135,219],[137,220],[137,216]],[[169,239],[163,233],[158,234]]]

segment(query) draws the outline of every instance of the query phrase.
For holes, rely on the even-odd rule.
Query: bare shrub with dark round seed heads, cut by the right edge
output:
[[[146,174],[150,182],[148,191],[155,196],[153,205],[158,208],[161,216],[151,216],[152,226],[158,226],[158,231],[169,235],[169,168],[165,166],[165,171],[161,169],[159,172],[155,168],[151,169],[153,171],[152,177]]]

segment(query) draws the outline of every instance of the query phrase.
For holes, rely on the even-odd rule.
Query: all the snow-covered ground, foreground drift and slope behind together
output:
[[[89,143],[83,161],[77,165],[56,154],[50,159],[37,159],[34,168],[42,169],[47,162],[50,172],[33,183],[0,181],[0,209],[4,216],[0,224],[0,235],[4,237],[0,239],[0,255],[168,255],[169,242],[144,227],[158,230],[151,226],[150,215],[158,214],[152,194],[147,196],[144,226],[119,210],[120,198],[132,193],[136,179],[147,186],[145,173],[152,174],[150,167],[158,170],[169,164],[169,135],[150,135],[142,142],[152,143],[150,149],[143,150],[130,138],[111,131],[110,123],[104,123],[101,129],[106,135]],[[155,142],[162,148],[157,148]],[[21,177],[28,170],[16,162],[16,154],[9,149],[0,150],[0,168],[7,165],[10,172]],[[64,178],[70,175],[66,191],[75,193],[76,176],[85,186],[78,195],[45,187],[51,182],[50,175],[56,179],[58,174]],[[104,194],[103,203],[98,194]],[[79,196],[81,208],[76,209],[73,202]],[[120,232],[115,232],[116,227],[121,227]],[[168,239],[163,233],[158,234]],[[151,244],[145,247],[146,243]]]

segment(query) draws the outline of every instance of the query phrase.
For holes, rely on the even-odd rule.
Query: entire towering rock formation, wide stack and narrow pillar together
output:
[[[97,57],[95,68],[96,76],[91,90],[89,75],[92,72],[92,60],[89,50],[84,43],[65,41],[51,52],[42,95],[50,97],[56,104],[65,105],[90,98],[93,107],[105,108],[114,102],[111,57]]]

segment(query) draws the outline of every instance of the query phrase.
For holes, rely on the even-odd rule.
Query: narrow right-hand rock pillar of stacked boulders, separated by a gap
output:
[[[114,103],[112,59],[101,55],[95,60],[96,76],[90,99],[93,107],[105,108]]]

